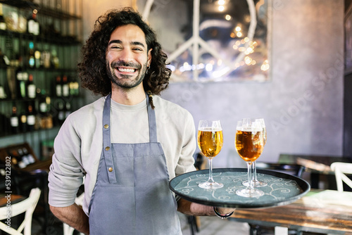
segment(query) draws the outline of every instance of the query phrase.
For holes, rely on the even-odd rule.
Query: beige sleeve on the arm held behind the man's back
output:
[[[49,171],[49,204],[56,207],[73,205],[83,183],[80,163],[80,136],[69,116],[54,141],[54,155]]]

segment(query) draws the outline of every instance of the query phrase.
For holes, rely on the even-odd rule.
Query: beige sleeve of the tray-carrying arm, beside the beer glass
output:
[[[188,111],[184,118],[183,127],[182,151],[175,169],[176,176],[196,170],[193,157],[194,151],[196,151],[196,128],[193,117]]]

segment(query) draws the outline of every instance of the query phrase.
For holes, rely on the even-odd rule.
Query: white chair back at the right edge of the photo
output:
[[[346,174],[352,174],[352,163],[332,163],[331,169],[335,172],[337,191],[344,191],[345,182],[352,189],[352,180]]]

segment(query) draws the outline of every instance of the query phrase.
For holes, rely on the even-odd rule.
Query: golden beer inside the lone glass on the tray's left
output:
[[[208,158],[213,158],[220,153],[222,148],[222,129],[203,128],[198,131],[198,146]]]

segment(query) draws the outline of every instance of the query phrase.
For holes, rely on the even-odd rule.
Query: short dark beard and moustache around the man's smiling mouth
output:
[[[131,67],[135,68],[138,70],[137,77],[132,79],[132,75],[115,75],[115,68],[118,66],[126,66],[126,67]],[[142,70],[141,70],[142,68]],[[137,87],[139,84],[141,84],[144,80],[144,76],[146,75],[146,68],[147,68],[147,62],[142,66],[137,63],[126,63],[125,61],[117,61],[111,63],[111,65],[106,62],[106,70],[108,71],[108,77],[110,78],[111,82],[113,84],[116,84],[118,87],[121,87],[123,89],[132,89],[134,87]],[[134,76],[134,75],[133,75]]]

